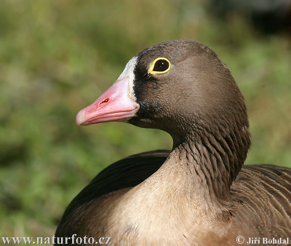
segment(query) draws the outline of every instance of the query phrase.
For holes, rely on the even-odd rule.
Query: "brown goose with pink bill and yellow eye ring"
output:
[[[291,169],[243,166],[251,144],[244,98],[212,49],[172,40],[139,52],[76,116],[82,126],[109,121],[166,131],[173,148],[101,171],[68,205],[55,237],[80,245],[88,238],[112,245],[291,243]]]

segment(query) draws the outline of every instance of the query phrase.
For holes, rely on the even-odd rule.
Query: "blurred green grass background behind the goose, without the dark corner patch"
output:
[[[79,110],[148,46],[194,39],[232,70],[246,99],[246,164],[291,167],[291,36],[265,35],[208,1],[0,2],[0,237],[50,237],[68,203],[107,165],[171,148],[162,131],[76,127]]]

